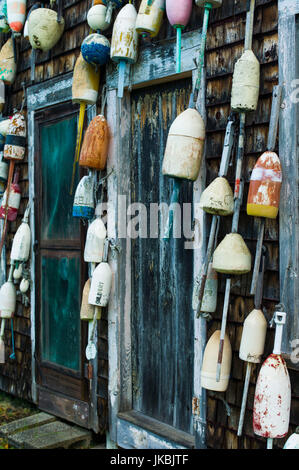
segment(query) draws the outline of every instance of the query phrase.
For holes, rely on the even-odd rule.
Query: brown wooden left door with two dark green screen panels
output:
[[[35,116],[36,364],[39,408],[88,427],[84,234],[70,195],[77,115],[77,107],[64,103]]]

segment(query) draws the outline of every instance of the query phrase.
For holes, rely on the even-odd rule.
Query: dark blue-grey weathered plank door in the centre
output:
[[[168,130],[188,107],[191,79],[132,93],[132,203],[170,203],[162,175]],[[192,203],[184,181],[180,203]],[[183,220],[183,219],[182,219]],[[183,222],[181,223],[183,233]],[[193,253],[186,239],[132,240],[133,409],[191,432],[193,393]]]

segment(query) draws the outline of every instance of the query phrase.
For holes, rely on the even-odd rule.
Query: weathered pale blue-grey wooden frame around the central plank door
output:
[[[182,72],[175,73],[175,40],[165,40],[153,47],[141,48],[138,63],[126,75],[126,90],[121,109],[117,98],[118,71],[115,65],[107,67],[108,86],[107,120],[112,135],[110,141],[107,172],[108,178],[108,236],[117,240],[118,254],[112,252],[109,263],[114,283],[108,307],[109,345],[109,433],[112,442],[122,448],[205,448],[206,393],[200,384],[200,369],[206,343],[206,321],[194,316],[194,383],[192,420],[194,436],[133,410],[131,370],[131,240],[118,238],[119,211],[118,195],[126,195],[130,204],[131,149],[130,90],[148,87],[177,79],[197,77],[196,60],[199,55],[201,34],[199,31],[186,33],[182,37]],[[197,103],[197,109],[205,118],[205,83]],[[199,209],[200,195],[205,188],[206,166],[203,159],[198,180],[193,186],[195,236],[199,248],[194,251],[194,279],[198,275],[205,254],[205,216]],[[119,215],[118,215],[119,214]]]

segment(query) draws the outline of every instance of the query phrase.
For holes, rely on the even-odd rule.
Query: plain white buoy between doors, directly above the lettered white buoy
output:
[[[103,221],[98,217],[88,227],[84,261],[87,263],[100,263],[103,259],[104,243],[107,231]]]

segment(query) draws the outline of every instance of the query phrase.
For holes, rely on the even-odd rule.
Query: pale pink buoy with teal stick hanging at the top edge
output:
[[[192,13],[192,0],[166,0],[166,14],[169,23],[177,32],[176,72],[181,72],[182,30],[187,26]]]

